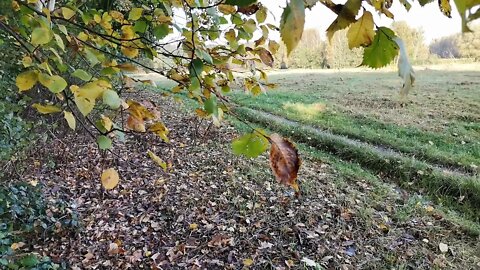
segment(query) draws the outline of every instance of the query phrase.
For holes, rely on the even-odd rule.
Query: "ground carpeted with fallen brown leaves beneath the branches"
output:
[[[61,133],[32,151],[23,181],[43,185],[50,203],[67,201],[79,225],[59,223],[18,252],[72,269],[480,268],[478,238],[428,201],[306,154],[296,198],[275,183],[266,156],[231,154],[234,128],[173,110],[169,98],[145,99],[157,103],[169,144],[129,134],[101,153],[87,134]],[[121,181],[105,191],[99,176],[109,167]]]

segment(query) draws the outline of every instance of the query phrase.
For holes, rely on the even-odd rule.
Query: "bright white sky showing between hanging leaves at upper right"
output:
[[[275,22],[278,23],[280,21],[283,7],[286,5],[286,1],[261,0],[260,2],[272,12],[275,17]],[[334,0],[334,2],[344,3],[345,1]],[[400,1],[394,0],[390,11],[395,15],[395,21],[406,21],[412,27],[423,29],[425,42],[428,44],[434,39],[461,32],[462,27],[460,15],[458,14],[453,1],[450,2],[452,4],[452,18],[448,18],[442,14],[438,8],[437,1],[433,1],[423,7],[421,7],[417,1],[410,1],[410,3],[412,3],[412,8],[407,12],[400,4]],[[370,11],[373,10],[370,9]],[[392,19],[387,18],[383,14],[378,15],[377,12],[372,13],[374,14],[374,20],[378,26],[390,26],[393,22]],[[335,18],[335,13],[324,7],[322,4],[317,4],[312,10],[306,10],[305,29],[315,28],[318,29],[321,34],[324,34]]]

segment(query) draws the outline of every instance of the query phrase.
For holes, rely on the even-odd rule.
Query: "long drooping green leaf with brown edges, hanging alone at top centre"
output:
[[[280,20],[280,36],[287,46],[287,56],[302,38],[304,25],[305,6],[303,0],[291,0],[283,10]]]

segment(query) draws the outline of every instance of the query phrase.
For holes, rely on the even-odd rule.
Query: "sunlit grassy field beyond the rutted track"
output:
[[[429,162],[461,167],[472,173],[477,171],[475,166],[480,166],[480,121],[477,121],[480,111],[471,106],[477,104],[478,107],[480,98],[474,95],[472,87],[459,88],[456,96],[450,97],[452,100],[446,94],[448,91],[439,92],[437,95],[440,97],[436,98],[440,100],[435,102],[430,102],[433,99],[431,93],[425,96],[414,93],[411,98],[416,103],[402,108],[396,106],[394,90],[387,85],[374,84],[375,79],[382,81],[383,77],[387,77],[387,82],[393,81],[391,74],[342,74],[272,75],[271,81],[281,84],[278,90],[255,98],[240,93],[234,93],[232,97],[241,106],[387,146]],[[338,84],[337,80],[342,76],[348,77],[348,82],[343,79],[344,83]],[[438,78],[440,74],[435,76]],[[330,84],[321,84],[329,80]],[[375,92],[356,90],[365,87]],[[388,91],[380,91],[375,87]],[[445,104],[440,105],[441,102]],[[442,111],[438,110],[438,115],[433,116],[419,113],[422,110],[434,110],[433,106],[446,109],[441,107]],[[378,111],[374,110],[375,107],[379,107]],[[468,112],[460,111],[465,107],[469,108]],[[475,115],[475,112],[479,115]]]

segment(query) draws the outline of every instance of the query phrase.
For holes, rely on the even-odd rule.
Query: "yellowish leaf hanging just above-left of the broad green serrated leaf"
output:
[[[373,27],[372,13],[365,11],[363,16],[348,29],[348,47],[353,49],[360,46],[370,45],[375,37]]]

